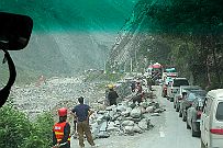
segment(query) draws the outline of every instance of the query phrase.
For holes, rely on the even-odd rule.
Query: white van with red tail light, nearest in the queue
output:
[[[223,89],[208,92],[200,129],[201,148],[223,148]]]

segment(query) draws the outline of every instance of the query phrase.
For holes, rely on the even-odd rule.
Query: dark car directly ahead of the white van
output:
[[[200,137],[200,119],[205,96],[198,96],[187,111],[187,129],[192,130],[192,137]]]

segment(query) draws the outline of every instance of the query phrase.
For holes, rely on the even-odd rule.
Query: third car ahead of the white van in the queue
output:
[[[176,93],[174,98],[174,107],[176,109],[176,112],[179,112],[180,110],[180,102],[182,100],[182,92],[190,91],[190,90],[201,90],[201,87],[199,86],[180,86],[180,89]]]

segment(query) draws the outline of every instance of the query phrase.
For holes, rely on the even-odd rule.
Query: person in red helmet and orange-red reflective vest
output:
[[[54,148],[70,148],[70,125],[67,119],[67,109],[58,110],[59,122],[53,127]]]

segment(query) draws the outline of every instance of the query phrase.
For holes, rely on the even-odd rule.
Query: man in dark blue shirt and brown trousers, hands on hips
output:
[[[88,143],[92,147],[96,147],[96,144],[94,144],[92,136],[91,136],[90,126],[89,126],[89,116],[93,112],[90,110],[89,105],[83,104],[83,98],[82,96],[78,98],[78,102],[79,102],[79,104],[76,105],[71,110],[71,113],[75,116],[77,116],[77,133],[78,133],[79,146],[80,146],[80,148],[85,147],[85,144],[83,144],[83,133],[85,133]]]

